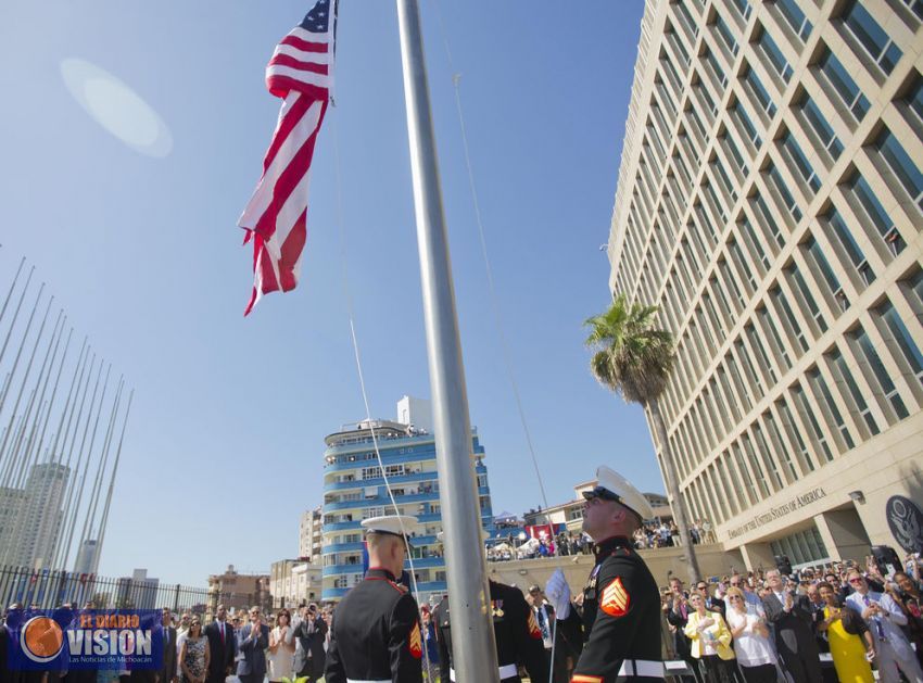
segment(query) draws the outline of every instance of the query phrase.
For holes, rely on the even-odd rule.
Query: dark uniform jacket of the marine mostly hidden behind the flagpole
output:
[[[491,610],[496,638],[497,662],[502,683],[520,681],[518,666],[529,672],[532,683],[547,683],[548,661],[542,642],[542,631],[522,592],[505,583],[490,582]],[[439,642],[439,667],[442,683],[450,683],[452,669],[452,620],[448,598],[444,598],[433,610],[437,641]],[[459,681],[458,683],[463,683]]]

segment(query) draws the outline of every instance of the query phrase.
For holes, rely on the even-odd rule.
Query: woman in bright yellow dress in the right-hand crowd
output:
[[[825,604],[824,619],[818,622],[818,631],[826,633],[836,676],[842,683],[873,683],[875,679],[869,661],[875,656],[875,645],[869,627],[859,615],[840,606],[830,583],[821,581],[818,591]],[[856,635],[857,632],[862,636]]]

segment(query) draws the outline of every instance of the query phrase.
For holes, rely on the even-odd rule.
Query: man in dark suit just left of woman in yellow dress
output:
[[[785,587],[777,569],[766,572],[769,593],[762,604],[766,620],[775,633],[775,647],[795,683],[823,680],[820,653],[811,629],[812,618],[808,598],[796,596]]]

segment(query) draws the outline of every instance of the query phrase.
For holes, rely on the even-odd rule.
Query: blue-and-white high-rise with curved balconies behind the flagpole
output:
[[[419,521],[414,539],[414,566],[420,595],[441,596],[446,590],[445,560],[437,541],[442,530],[435,439],[431,433],[429,402],[405,396],[399,403],[400,421],[364,420],[327,437],[324,468],[324,591],[325,600],[338,600],[363,577],[363,530],[369,517],[394,514],[384,485],[391,484],[397,509]],[[372,443],[375,431],[384,471]],[[477,432],[476,458],[481,520],[493,532],[493,510],[483,464],[484,448]],[[405,565],[409,570],[409,562]]]

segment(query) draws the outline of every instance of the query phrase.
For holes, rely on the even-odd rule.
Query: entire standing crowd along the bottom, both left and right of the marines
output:
[[[571,552],[570,540],[558,541],[559,552]],[[735,572],[690,590],[673,577],[661,589],[663,659],[684,660],[687,668],[679,675],[687,683],[871,683],[876,678],[923,683],[923,562],[919,554],[908,555],[903,566],[892,569],[899,570],[883,571],[870,556],[864,565]],[[574,608],[581,608],[582,597],[574,596]],[[531,586],[526,600],[548,661],[557,642],[553,680],[569,680],[579,650],[570,650],[566,635],[558,638],[541,586]],[[324,674],[332,617],[332,605],[265,616],[258,607],[218,606],[215,619],[204,624],[198,612],[164,609],[160,671],[23,672],[17,683],[224,683],[227,676],[240,683],[306,676],[313,683]],[[426,605],[419,623],[425,680],[440,681],[438,624]]]

